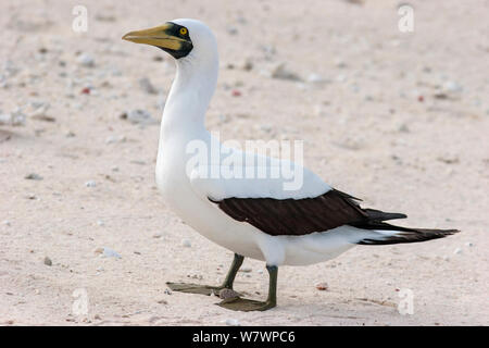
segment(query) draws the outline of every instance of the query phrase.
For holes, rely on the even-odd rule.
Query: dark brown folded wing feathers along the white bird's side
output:
[[[226,198],[210,200],[229,216],[273,235],[301,236],[342,225],[368,228],[374,223],[406,217],[404,214],[362,209],[348,194],[331,189],[304,199]]]

